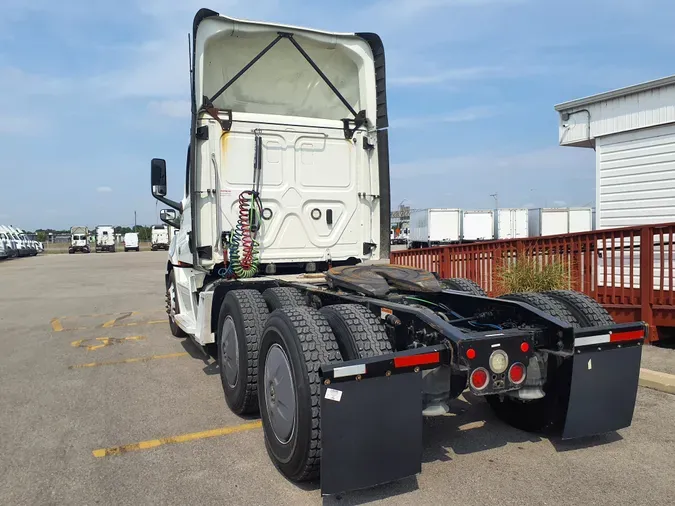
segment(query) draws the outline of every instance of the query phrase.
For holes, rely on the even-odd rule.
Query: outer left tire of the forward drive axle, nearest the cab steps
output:
[[[258,350],[269,315],[257,290],[227,293],[218,314],[216,342],[225,400],[237,415],[258,411]]]

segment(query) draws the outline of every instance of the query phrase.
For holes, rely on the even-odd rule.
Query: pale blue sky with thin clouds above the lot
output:
[[[382,36],[393,206],[592,204],[554,104],[674,73],[668,0],[1,0],[0,223],[152,223],[155,156],[180,197],[200,7]]]

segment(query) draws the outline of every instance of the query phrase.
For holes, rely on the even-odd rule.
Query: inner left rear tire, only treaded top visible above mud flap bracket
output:
[[[392,352],[384,325],[368,308],[358,304],[335,304],[321,308],[320,312],[333,330],[344,360]]]

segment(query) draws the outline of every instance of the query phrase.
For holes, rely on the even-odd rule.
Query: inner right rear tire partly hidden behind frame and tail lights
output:
[[[502,295],[500,299],[525,302],[540,311],[550,314],[564,322],[580,327],[579,320],[559,300],[543,293],[513,293]],[[547,362],[546,383],[543,385],[545,396],[541,399],[521,401],[513,397],[488,395],[485,400],[504,422],[527,432],[556,433],[565,423],[569,395],[569,378],[572,361],[549,356]]]

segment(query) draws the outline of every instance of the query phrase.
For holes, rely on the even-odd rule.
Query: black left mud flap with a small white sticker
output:
[[[321,493],[373,487],[422,471],[422,374],[321,386]]]

